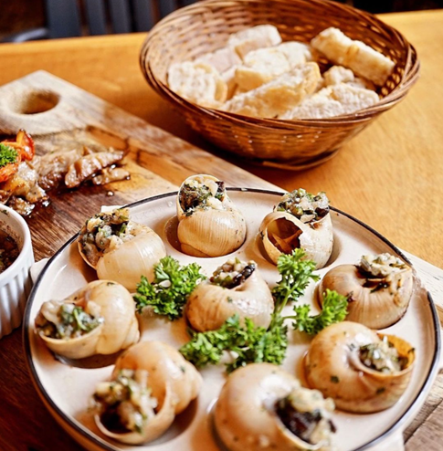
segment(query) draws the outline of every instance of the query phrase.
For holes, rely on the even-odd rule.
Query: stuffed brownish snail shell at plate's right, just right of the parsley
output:
[[[357,265],[332,267],[319,285],[348,299],[347,320],[371,329],[385,329],[401,320],[414,291],[412,268],[390,254],[365,255]]]

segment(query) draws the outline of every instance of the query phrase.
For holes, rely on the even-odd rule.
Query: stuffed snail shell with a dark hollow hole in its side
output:
[[[259,237],[275,265],[281,254],[290,254],[300,247],[306,258],[315,262],[316,269],[324,267],[333,245],[328,197],[302,188],[284,194],[274,211],[263,219]]]

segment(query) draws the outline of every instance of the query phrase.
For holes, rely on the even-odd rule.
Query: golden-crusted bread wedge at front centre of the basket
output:
[[[258,118],[276,118],[311,95],[320,79],[317,63],[306,63],[228,100],[223,110]]]

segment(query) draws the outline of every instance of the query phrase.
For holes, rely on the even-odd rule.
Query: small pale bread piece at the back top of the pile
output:
[[[237,31],[227,40],[227,46],[235,48],[240,58],[245,58],[252,50],[274,47],[280,44],[279,30],[272,25],[259,25]]]

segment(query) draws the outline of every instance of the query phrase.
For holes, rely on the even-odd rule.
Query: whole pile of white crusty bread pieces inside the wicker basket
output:
[[[332,67],[322,74],[318,61]],[[174,63],[169,87],[206,108],[250,117],[324,119],[377,103],[395,63],[361,41],[327,28],[311,44],[281,42],[275,26],[232,34],[227,46],[194,61]]]

